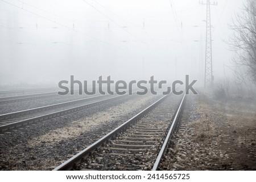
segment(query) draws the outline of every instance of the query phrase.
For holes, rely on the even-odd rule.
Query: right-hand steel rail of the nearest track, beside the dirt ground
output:
[[[174,132],[174,130],[176,128],[176,125],[177,125],[177,122],[179,121],[180,115],[182,113],[182,109],[183,109],[183,106],[184,106],[184,103],[185,103],[185,96],[186,96],[186,94],[184,93],[184,96],[181,99],[179,108],[176,111],[174,120],[172,121],[172,124],[171,124],[170,128],[168,129],[167,136],[164,139],[163,145],[162,145],[162,147],[161,147],[161,149],[159,151],[159,154],[158,154],[158,156],[157,156],[157,158],[155,160],[154,166],[152,167],[151,171],[158,170],[158,166],[159,166],[159,164],[161,162],[161,159],[162,159],[163,155],[166,153],[166,149],[168,147],[168,143],[169,143],[169,141],[171,139],[172,133]]]

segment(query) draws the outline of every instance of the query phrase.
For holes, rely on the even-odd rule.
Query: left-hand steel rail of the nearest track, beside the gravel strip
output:
[[[100,149],[104,143],[108,142],[109,139],[116,136],[118,133],[125,130],[127,127],[129,127],[131,124],[137,122],[140,118],[145,116],[149,111],[151,111],[153,108],[155,108],[158,104],[160,104],[164,99],[167,98],[168,95],[164,95],[159,100],[155,101],[153,104],[148,106],[147,108],[143,109],[141,112],[139,112],[134,117],[130,118],[126,122],[124,122],[122,125],[118,126],[112,132],[106,134],[104,137],[100,138],[98,141],[94,142],[92,145],[86,147],[84,150],[80,151],[80,153],[74,155],[72,158],[68,159],[66,162],[60,164],[60,166],[57,166],[53,171],[64,171],[64,170],[72,170],[74,166],[79,164],[81,160],[88,157],[90,154],[92,154],[95,150]]]

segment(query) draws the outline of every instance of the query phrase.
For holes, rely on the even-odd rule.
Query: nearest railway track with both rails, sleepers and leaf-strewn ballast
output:
[[[163,96],[54,170],[157,170],[183,110]]]

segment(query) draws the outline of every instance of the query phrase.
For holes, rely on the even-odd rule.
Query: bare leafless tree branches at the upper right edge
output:
[[[249,78],[256,84],[256,1],[247,0],[242,12],[235,14],[229,27],[234,31],[230,37],[229,45],[234,51],[233,63],[243,75],[237,79],[245,81]]]

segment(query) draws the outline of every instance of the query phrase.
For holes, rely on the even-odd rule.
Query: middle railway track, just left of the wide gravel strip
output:
[[[117,95],[98,95],[90,98],[66,101],[64,103],[3,114],[0,115],[0,133],[31,122],[42,121],[47,118],[106,103],[110,100],[118,99],[119,97],[120,96]]]

